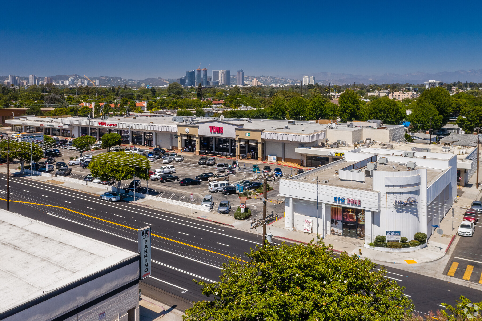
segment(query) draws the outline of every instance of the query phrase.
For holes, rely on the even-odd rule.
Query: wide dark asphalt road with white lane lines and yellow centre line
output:
[[[5,175],[1,174],[0,180],[0,190],[5,191]],[[205,299],[193,279],[217,281],[220,267],[229,256],[247,260],[244,251],[260,241],[256,234],[126,202],[109,203],[91,194],[30,179],[13,177],[11,191],[14,201],[62,207],[11,202],[13,212],[134,252],[137,233],[127,227],[151,226],[152,233],[160,237],[152,239],[152,277],[145,279],[146,283],[190,301]],[[5,201],[0,201],[0,206],[5,208]],[[441,308],[442,302],[454,305],[460,295],[482,300],[481,291],[391,267],[387,277],[406,287],[405,294],[420,312]]]

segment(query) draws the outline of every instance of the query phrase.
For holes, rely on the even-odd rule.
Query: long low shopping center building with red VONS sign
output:
[[[64,137],[90,135],[97,140],[102,139],[103,134],[118,133],[124,144],[236,159],[274,159],[307,167],[317,167],[343,156],[334,148],[310,153],[299,147],[351,147],[366,139],[377,142],[402,140],[404,134],[403,126],[380,126],[379,122],[323,124],[298,120],[221,118],[148,114],[105,119],[15,117],[6,122],[13,131],[19,132],[43,132]]]

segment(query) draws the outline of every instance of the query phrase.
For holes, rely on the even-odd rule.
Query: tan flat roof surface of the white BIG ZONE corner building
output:
[[[365,182],[363,183],[358,181],[341,180],[338,174],[335,174],[335,171],[337,170],[339,171],[357,162],[358,161],[341,161],[340,160],[340,161],[332,162],[324,166],[309,170],[305,173],[298,174],[288,179],[302,180],[307,183],[316,184],[316,179],[318,177],[319,181],[329,180],[329,185],[333,185],[333,186],[372,190],[372,187],[373,187],[372,177],[365,176]],[[393,167],[395,167],[395,169],[393,169]],[[421,169],[421,168],[427,170],[427,186],[430,185],[430,182],[434,181],[435,179],[438,178],[438,176],[440,176],[441,174],[443,174],[443,172],[445,172],[444,170],[442,171],[439,169],[416,166],[416,169]],[[376,171],[377,172],[380,172],[380,171],[408,172],[409,170],[405,165],[402,165],[398,162],[389,161],[387,165],[382,165],[377,163]]]

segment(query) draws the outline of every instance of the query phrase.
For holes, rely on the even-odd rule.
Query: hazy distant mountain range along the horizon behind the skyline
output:
[[[299,74],[290,77],[284,76],[244,76],[244,81],[251,81],[254,78],[261,83],[266,83],[267,85],[273,84],[299,84],[301,83],[303,76],[314,76],[315,82],[319,84],[350,84],[350,83],[364,83],[364,84],[385,84],[385,83],[396,83],[399,82],[401,84],[404,83],[412,83],[412,84],[420,84],[428,81],[430,79],[435,79],[437,81],[443,82],[454,82],[454,81],[472,81],[472,82],[482,82],[482,69],[472,69],[472,70],[457,70],[457,71],[442,71],[436,74],[428,74],[425,72],[414,72],[410,74],[398,75],[398,74],[383,74],[380,76],[377,75],[354,75],[354,74],[337,74],[331,72],[317,72],[311,74]],[[73,77],[76,82],[78,79],[85,79],[83,76],[74,74],[74,75],[56,75],[56,76],[41,76],[38,77],[40,81],[43,81],[44,77],[52,77],[54,81],[60,80],[68,80],[69,77]],[[141,80],[133,80],[133,79],[123,79],[120,77],[110,77],[110,76],[100,76],[100,77],[89,77],[91,80],[95,81],[96,79],[100,80],[101,86],[123,86],[124,84],[128,86],[140,86],[142,83],[146,83],[148,85],[154,86],[164,86],[168,85],[171,82],[176,81],[175,79],[166,79],[166,78],[147,78]],[[28,76],[20,76],[22,80],[28,80]],[[8,80],[8,76],[0,76],[0,81]],[[236,84],[236,75],[231,75],[231,83]]]

